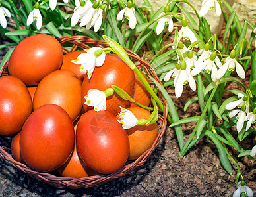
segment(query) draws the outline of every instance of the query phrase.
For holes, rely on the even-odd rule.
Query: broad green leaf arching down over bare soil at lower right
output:
[[[224,149],[224,146],[222,145],[222,143],[218,140],[218,138],[216,137],[216,134],[210,132],[210,131],[206,131],[205,135],[207,135],[208,137],[210,137],[210,139],[212,140],[212,142],[214,142],[216,148],[218,149],[218,154],[219,154],[219,158],[220,158],[220,163],[222,164],[222,166],[224,167],[224,169],[226,169],[226,171],[232,175],[232,167],[230,164],[230,160],[228,160],[228,155],[226,154],[226,151]]]

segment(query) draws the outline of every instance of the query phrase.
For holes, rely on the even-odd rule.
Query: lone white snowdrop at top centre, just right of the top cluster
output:
[[[128,1],[127,2],[127,7],[125,9],[122,9],[118,14],[117,14],[117,20],[122,20],[123,15],[125,15],[125,18],[129,20],[129,28],[134,29],[137,23],[137,19],[135,17],[135,9],[133,7],[133,2]]]

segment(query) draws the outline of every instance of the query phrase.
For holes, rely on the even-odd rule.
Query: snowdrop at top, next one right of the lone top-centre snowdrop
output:
[[[169,5],[166,5],[166,7],[164,7],[164,12],[159,14],[158,17],[160,17],[168,12],[170,12],[170,7],[169,7]],[[156,35],[159,35],[160,33],[162,33],[162,31],[164,30],[164,25],[166,25],[166,24],[169,24],[168,32],[172,32],[172,30],[174,30],[174,22],[172,21],[172,17],[170,15],[166,15],[166,16],[158,19],[158,24],[156,26]]]

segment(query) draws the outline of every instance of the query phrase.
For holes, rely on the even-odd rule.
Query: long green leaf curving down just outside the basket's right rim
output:
[[[150,79],[152,79],[154,81],[154,83],[156,84],[156,86],[161,91],[162,95],[164,96],[164,99],[166,99],[170,114],[172,116],[172,121],[174,123],[176,121],[179,121],[179,115],[177,114],[177,110],[174,105],[174,102],[172,101],[170,95],[167,93],[166,89],[164,89],[164,87],[162,87],[162,85],[160,85],[160,83],[158,83],[158,81],[156,81],[156,79],[154,79],[152,77],[150,77]],[[180,148],[180,150],[182,150],[182,148],[184,146],[183,131],[182,131],[180,125],[175,126],[174,129],[176,131],[177,141],[179,142],[179,148]]]

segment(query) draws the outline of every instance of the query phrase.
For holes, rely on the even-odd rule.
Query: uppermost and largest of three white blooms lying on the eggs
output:
[[[95,66],[100,67],[104,64],[106,54],[100,47],[92,47],[85,49],[85,51],[87,51],[87,53],[81,53],[76,60],[72,60],[71,62],[81,64],[80,71],[86,70],[88,79],[90,79]]]

